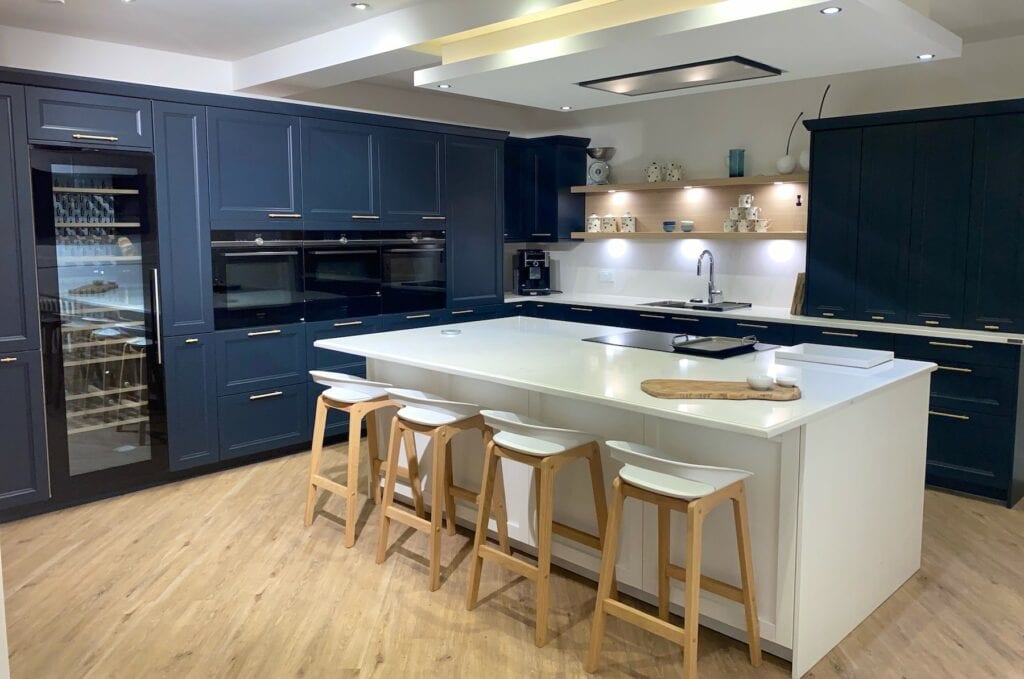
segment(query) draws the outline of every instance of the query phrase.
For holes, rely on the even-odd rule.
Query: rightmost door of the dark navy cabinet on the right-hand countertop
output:
[[[964,326],[1024,325],[1024,115],[975,121]]]

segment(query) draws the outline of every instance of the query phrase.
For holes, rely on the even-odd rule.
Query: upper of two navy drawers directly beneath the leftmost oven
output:
[[[302,324],[216,333],[217,393],[304,383],[305,337]]]

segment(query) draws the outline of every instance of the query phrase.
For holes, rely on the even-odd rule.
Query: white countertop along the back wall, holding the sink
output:
[[[685,301],[684,296],[668,293],[662,297],[631,297],[627,295],[599,295],[586,293],[556,293],[543,297],[528,297],[506,293],[507,303],[515,302],[550,302],[552,304],[586,304],[589,306],[604,306],[608,308],[629,309],[631,311],[660,311],[678,315],[707,315],[712,317],[737,319],[745,321],[766,321],[788,323],[795,326],[819,326],[822,328],[842,328],[845,330],[860,330],[863,332],[893,333],[896,335],[916,335],[919,337],[948,337],[953,339],[973,340],[975,342],[993,342],[997,344],[1020,344],[1024,335],[1012,333],[993,333],[983,330],[964,330],[959,328],[933,328],[930,326],[909,326],[893,323],[871,323],[869,321],[847,321],[843,319],[822,319],[817,316],[794,315],[788,307],[758,306],[732,311],[697,311],[694,309],[677,309],[668,306],[646,306],[647,302],[666,299]],[[641,306],[644,304],[644,306]]]

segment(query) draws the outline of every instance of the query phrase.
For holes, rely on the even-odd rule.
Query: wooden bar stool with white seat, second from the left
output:
[[[498,536],[507,553],[511,553],[508,538],[508,517],[505,511],[505,492],[499,491],[494,496],[487,494],[481,504],[481,494],[458,486],[454,482],[452,469],[452,439],[464,431],[478,430],[483,434],[484,447],[490,442],[490,429],[480,416],[480,407],[473,404],[463,404],[446,400],[441,396],[414,389],[388,389],[391,399],[401,406],[391,421],[391,441],[388,445],[387,469],[384,474],[384,499],[381,507],[381,531],[377,543],[377,562],[383,563],[387,557],[388,531],[391,520],[404,523],[430,536],[430,591],[440,587],[441,558],[441,516],[447,517],[447,533],[455,535],[455,499],[460,498],[476,503],[480,512],[485,515],[494,509],[498,520]],[[410,468],[416,460],[415,434],[427,434],[431,439],[433,465],[430,474],[430,520],[394,504],[394,484],[398,470],[398,451],[401,442],[406,444],[406,456]],[[413,492],[418,485],[414,483]],[[443,506],[443,509],[442,509]],[[479,527],[477,527],[479,531]],[[484,529],[486,524],[484,523]]]

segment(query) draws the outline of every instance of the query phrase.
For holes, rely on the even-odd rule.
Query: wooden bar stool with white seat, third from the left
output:
[[[494,561],[513,572],[537,583],[537,622],[534,642],[543,646],[548,641],[549,591],[551,587],[551,538],[557,533],[587,547],[602,550],[605,542],[605,522],[608,505],[604,495],[604,472],[601,468],[601,448],[594,436],[572,429],[546,426],[537,420],[498,411],[482,411],[486,424],[496,433],[487,445],[483,463],[483,501],[476,519],[476,539],[470,562],[469,590],[466,609],[472,610],[480,590],[480,571],[483,559]],[[501,489],[501,460],[513,460],[528,465],[537,478],[537,565],[500,552],[486,544],[486,520],[482,507],[487,505],[490,493]],[[555,474],[573,460],[586,460],[590,466],[591,485],[594,491],[594,509],[597,513],[597,536],[554,520]]]

